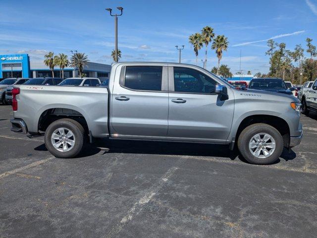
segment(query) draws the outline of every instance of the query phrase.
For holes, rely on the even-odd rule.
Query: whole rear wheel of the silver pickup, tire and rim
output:
[[[82,149],[84,127],[73,119],[52,122],[45,132],[45,145],[57,158],[73,158]]]

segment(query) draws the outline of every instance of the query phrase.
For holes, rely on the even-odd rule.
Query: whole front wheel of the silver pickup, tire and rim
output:
[[[246,127],[238,139],[242,156],[251,164],[267,165],[275,162],[283,151],[283,138],[273,126],[256,123]]]

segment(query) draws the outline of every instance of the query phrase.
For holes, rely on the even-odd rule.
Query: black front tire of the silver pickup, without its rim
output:
[[[257,158],[249,149],[249,142],[258,133],[267,133],[275,140],[275,150],[266,158]],[[238,149],[241,155],[251,164],[268,165],[274,163],[283,152],[283,137],[273,126],[264,123],[256,123],[246,127],[238,138]]]

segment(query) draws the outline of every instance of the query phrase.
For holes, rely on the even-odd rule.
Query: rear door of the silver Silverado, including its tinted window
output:
[[[112,136],[166,136],[167,66],[127,65],[119,73],[120,82],[115,81],[111,99]],[[115,77],[117,80],[117,71]]]

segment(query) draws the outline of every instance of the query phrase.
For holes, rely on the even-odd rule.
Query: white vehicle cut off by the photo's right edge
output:
[[[308,91],[303,93],[301,100],[303,105],[302,106],[303,114],[308,115],[310,111],[317,112],[317,79],[314,81],[314,83],[308,89]]]

